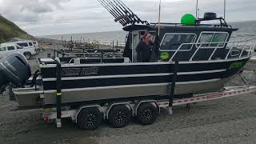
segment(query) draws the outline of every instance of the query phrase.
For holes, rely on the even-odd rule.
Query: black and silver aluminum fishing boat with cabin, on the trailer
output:
[[[150,24],[140,19],[134,22],[133,18],[136,20],[132,14],[116,18],[129,33],[122,58],[37,58],[39,70],[30,85],[13,90],[18,106],[55,105],[58,63],[62,104],[79,106],[76,104],[81,102],[166,98],[174,77],[176,97],[218,91],[254,53],[255,39],[230,42],[231,34],[238,29],[227,25],[223,18],[206,14],[193,25]],[[201,24],[212,20],[220,23]],[[137,62],[135,49],[146,32],[154,36],[152,56],[150,62]],[[9,61],[3,58],[0,64]]]

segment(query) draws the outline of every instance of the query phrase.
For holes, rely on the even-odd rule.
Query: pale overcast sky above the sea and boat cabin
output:
[[[198,0],[199,15],[223,15],[224,0]],[[158,21],[159,0],[122,0],[138,17]],[[256,0],[226,0],[227,22],[256,19]],[[162,0],[162,22],[180,22],[195,13],[196,0]],[[97,0],[0,0],[0,14],[33,35],[122,30]]]

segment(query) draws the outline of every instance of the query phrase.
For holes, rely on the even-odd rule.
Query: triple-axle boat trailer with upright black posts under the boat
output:
[[[57,68],[60,70],[60,65],[57,65]],[[161,100],[143,99],[109,102],[103,106],[98,104],[89,104],[81,105],[74,109],[71,108],[71,106],[62,106],[62,90],[60,85],[62,80],[60,78],[60,71],[57,70],[57,107],[46,108],[42,117],[45,122],[56,122],[57,127],[62,127],[62,118],[71,118],[73,122],[78,124],[79,128],[86,130],[93,130],[97,128],[102,120],[108,121],[113,127],[126,126],[130,122],[130,118],[135,118],[142,125],[149,125],[152,124],[156,116],[160,114],[160,109],[168,110],[169,114],[173,114],[173,106],[186,105],[190,108],[191,103],[206,102],[214,99],[256,92],[256,86],[249,86],[250,80],[246,79],[242,74],[239,74],[246,83],[245,86],[228,86],[218,92],[193,94],[193,96],[190,96],[189,98],[174,98],[177,69],[178,62],[175,62],[174,77],[171,79],[172,83],[169,98]],[[118,121],[116,121],[118,114]],[[147,115],[147,117],[143,118],[143,115]],[[82,120],[82,118],[85,118],[86,120]]]

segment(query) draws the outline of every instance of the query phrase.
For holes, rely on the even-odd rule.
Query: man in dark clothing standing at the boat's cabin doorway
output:
[[[136,47],[138,62],[150,62],[150,56],[152,53],[152,36],[150,33],[145,33],[142,36],[141,42],[138,42]]]

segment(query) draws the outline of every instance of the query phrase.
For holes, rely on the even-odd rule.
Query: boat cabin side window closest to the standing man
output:
[[[196,39],[196,34],[173,34],[166,33],[164,38],[162,38],[160,50],[163,51],[173,51],[173,50],[191,50]],[[187,44],[186,44],[187,43]]]

